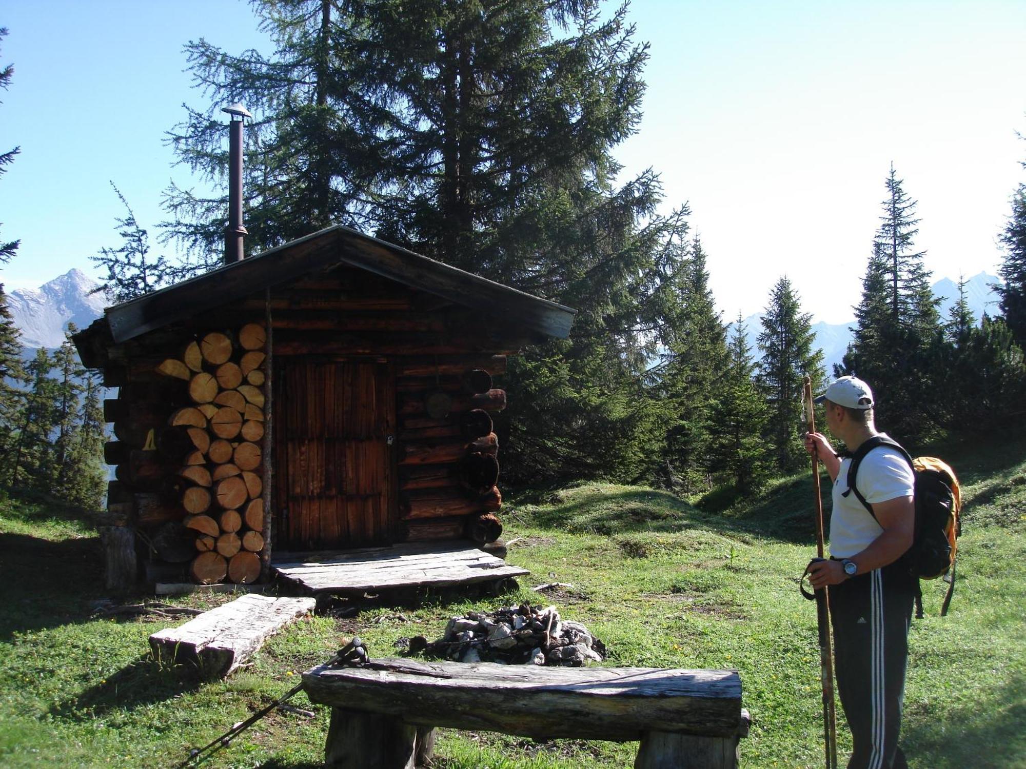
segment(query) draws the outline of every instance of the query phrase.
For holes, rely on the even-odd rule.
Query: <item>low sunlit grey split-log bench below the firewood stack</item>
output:
[[[314,610],[312,598],[247,595],[150,636],[158,658],[196,662],[204,675],[224,678],[286,624]]]

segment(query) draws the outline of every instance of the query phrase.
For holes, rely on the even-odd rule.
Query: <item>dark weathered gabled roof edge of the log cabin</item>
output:
[[[497,318],[549,336],[568,336],[577,313],[554,301],[337,225],[107,308],[105,317],[113,341],[121,343],[183,318],[337,265],[366,270],[456,303],[485,310]],[[91,329],[81,335],[85,336]]]

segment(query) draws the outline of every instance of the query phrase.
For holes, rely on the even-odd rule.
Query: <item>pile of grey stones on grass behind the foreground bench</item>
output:
[[[420,644],[410,642],[410,651]],[[452,617],[445,635],[423,644],[424,653],[461,662],[502,662],[580,667],[601,662],[605,645],[580,622],[562,619],[555,606],[509,606]]]

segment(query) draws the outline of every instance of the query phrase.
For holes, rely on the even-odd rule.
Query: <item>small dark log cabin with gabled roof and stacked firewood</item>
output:
[[[574,314],[341,226],[108,308],[108,588],[495,540],[495,377]]]

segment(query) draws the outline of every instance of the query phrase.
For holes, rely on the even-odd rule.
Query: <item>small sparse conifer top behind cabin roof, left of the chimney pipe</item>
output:
[[[111,301],[122,302],[155,291],[190,271],[171,265],[164,256],[150,256],[149,234],[139,226],[131,206],[113,181],[111,187],[126,211],[125,216],[114,219],[121,245],[101,248],[89,259],[106,273],[104,283],[94,291],[103,291]]]

